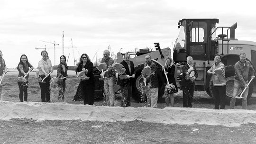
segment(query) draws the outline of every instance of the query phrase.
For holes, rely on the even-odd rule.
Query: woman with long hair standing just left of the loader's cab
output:
[[[178,92],[177,84],[174,78],[174,73],[175,73],[175,65],[174,61],[171,57],[167,57],[165,59],[165,67],[164,67],[164,74],[166,74],[167,79],[165,77],[165,83],[167,85],[165,86],[165,103],[166,107],[169,106],[169,101],[171,101],[171,107],[174,106],[174,93]],[[168,82],[167,82],[168,80]],[[170,87],[168,84],[171,84],[175,88]],[[169,89],[169,90],[168,90]]]

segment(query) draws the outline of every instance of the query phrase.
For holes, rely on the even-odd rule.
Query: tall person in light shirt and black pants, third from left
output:
[[[41,100],[42,102],[51,102],[50,74],[53,72],[52,62],[47,58],[48,53],[46,51],[42,51],[41,55],[42,59],[38,62],[38,82],[41,88]]]

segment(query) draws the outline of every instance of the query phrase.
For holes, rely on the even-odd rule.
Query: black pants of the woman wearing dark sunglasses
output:
[[[89,81],[89,80],[85,80]],[[83,104],[93,105],[94,103],[94,83],[86,83],[82,81],[82,95],[83,95]]]

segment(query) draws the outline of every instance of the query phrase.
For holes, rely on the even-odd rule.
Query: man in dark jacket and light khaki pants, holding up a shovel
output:
[[[159,68],[152,62],[150,55],[145,56],[145,61],[145,66],[148,65],[151,68],[151,73],[146,76],[146,81],[150,83],[149,92],[146,96],[147,105],[148,107],[157,108],[159,81],[164,83],[164,79]]]

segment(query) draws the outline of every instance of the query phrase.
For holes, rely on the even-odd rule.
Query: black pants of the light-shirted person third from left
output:
[[[39,75],[42,79],[44,79],[46,76],[45,75]],[[43,82],[38,82],[41,88],[41,99],[42,102],[51,102],[50,97],[51,97],[51,89],[50,89],[50,81],[51,77],[48,76],[45,80],[46,83]]]

